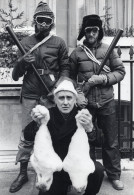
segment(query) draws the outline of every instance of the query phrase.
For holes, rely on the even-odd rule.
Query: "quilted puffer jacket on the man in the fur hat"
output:
[[[88,47],[86,41],[84,44]],[[94,56],[101,62],[108,50],[108,45],[98,43],[96,48],[90,48]],[[115,50],[111,53],[106,65],[110,68],[107,73],[104,70],[101,74],[106,74],[108,82],[105,86],[97,85],[90,89],[88,93],[89,105],[93,107],[102,107],[114,98],[113,86],[124,78],[125,69],[123,63]],[[88,79],[97,73],[99,65],[88,58],[81,47],[77,47],[70,55],[71,77],[78,82],[88,81]]]

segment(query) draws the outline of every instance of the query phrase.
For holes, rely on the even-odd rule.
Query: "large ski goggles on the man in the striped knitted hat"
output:
[[[50,26],[53,24],[53,18],[49,16],[36,16],[35,22],[41,26]]]

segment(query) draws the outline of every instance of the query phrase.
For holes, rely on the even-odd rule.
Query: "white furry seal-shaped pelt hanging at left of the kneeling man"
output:
[[[50,119],[48,109],[40,105],[34,109],[43,113],[45,117],[41,119],[41,126],[36,133],[34,150],[30,160],[37,173],[36,187],[42,191],[48,191],[53,181],[53,173],[62,170],[62,160],[53,149],[51,135],[47,127]]]

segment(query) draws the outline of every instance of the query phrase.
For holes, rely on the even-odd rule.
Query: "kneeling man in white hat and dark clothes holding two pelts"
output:
[[[63,80],[57,86],[54,90],[54,100],[55,107],[49,109],[50,120],[47,123],[47,127],[51,135],[54,151],[64,164],[64,159],[69,152],[71,139],[78,131],[78,122],[87,133],[89,146],[95,140],[96,129],[93,127],[90,113],[80,112],[77,106],[77,92],[71,80]],[[43,112],[36,112],[35,110],[33,109],[32,111],[34,121],[24,130],[25,139],[28,141],[34,141],[41,120],[45,117]],[[81,155],[79,150],[77,153]],[[104,168],[101,163],[96,161],[94,161],[94,166],[95,170],[88,175],[86,189],[83,189],[82,194],[84,195],[96,195],[100,190],[104,177]],[[79,180],[79,178],[77,179]],[[50,189],[46,192],[40,190],[39,195],[67,195],[68,187],[72,183],[70,174],[62,169],[62,171],[54,173]]]

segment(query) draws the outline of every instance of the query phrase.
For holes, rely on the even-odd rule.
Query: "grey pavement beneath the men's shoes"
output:
[[[134,160],[130,161],[129,159],[122,159],[121,168],[121,180],[124,183],[124,190],[117,191],[113,189],[105,175],[98,195],[134,195]],[[35,188],[35,173],[30,163],[28,167],[29,181],[18,192],[9,192],[9,187],[12,181],[16,178],[18,172],[19,165],[14,165],[13,162],[0,163],[0,195],[38,195],[38,190]],[[68,195],[76,194],[68,193]]]

